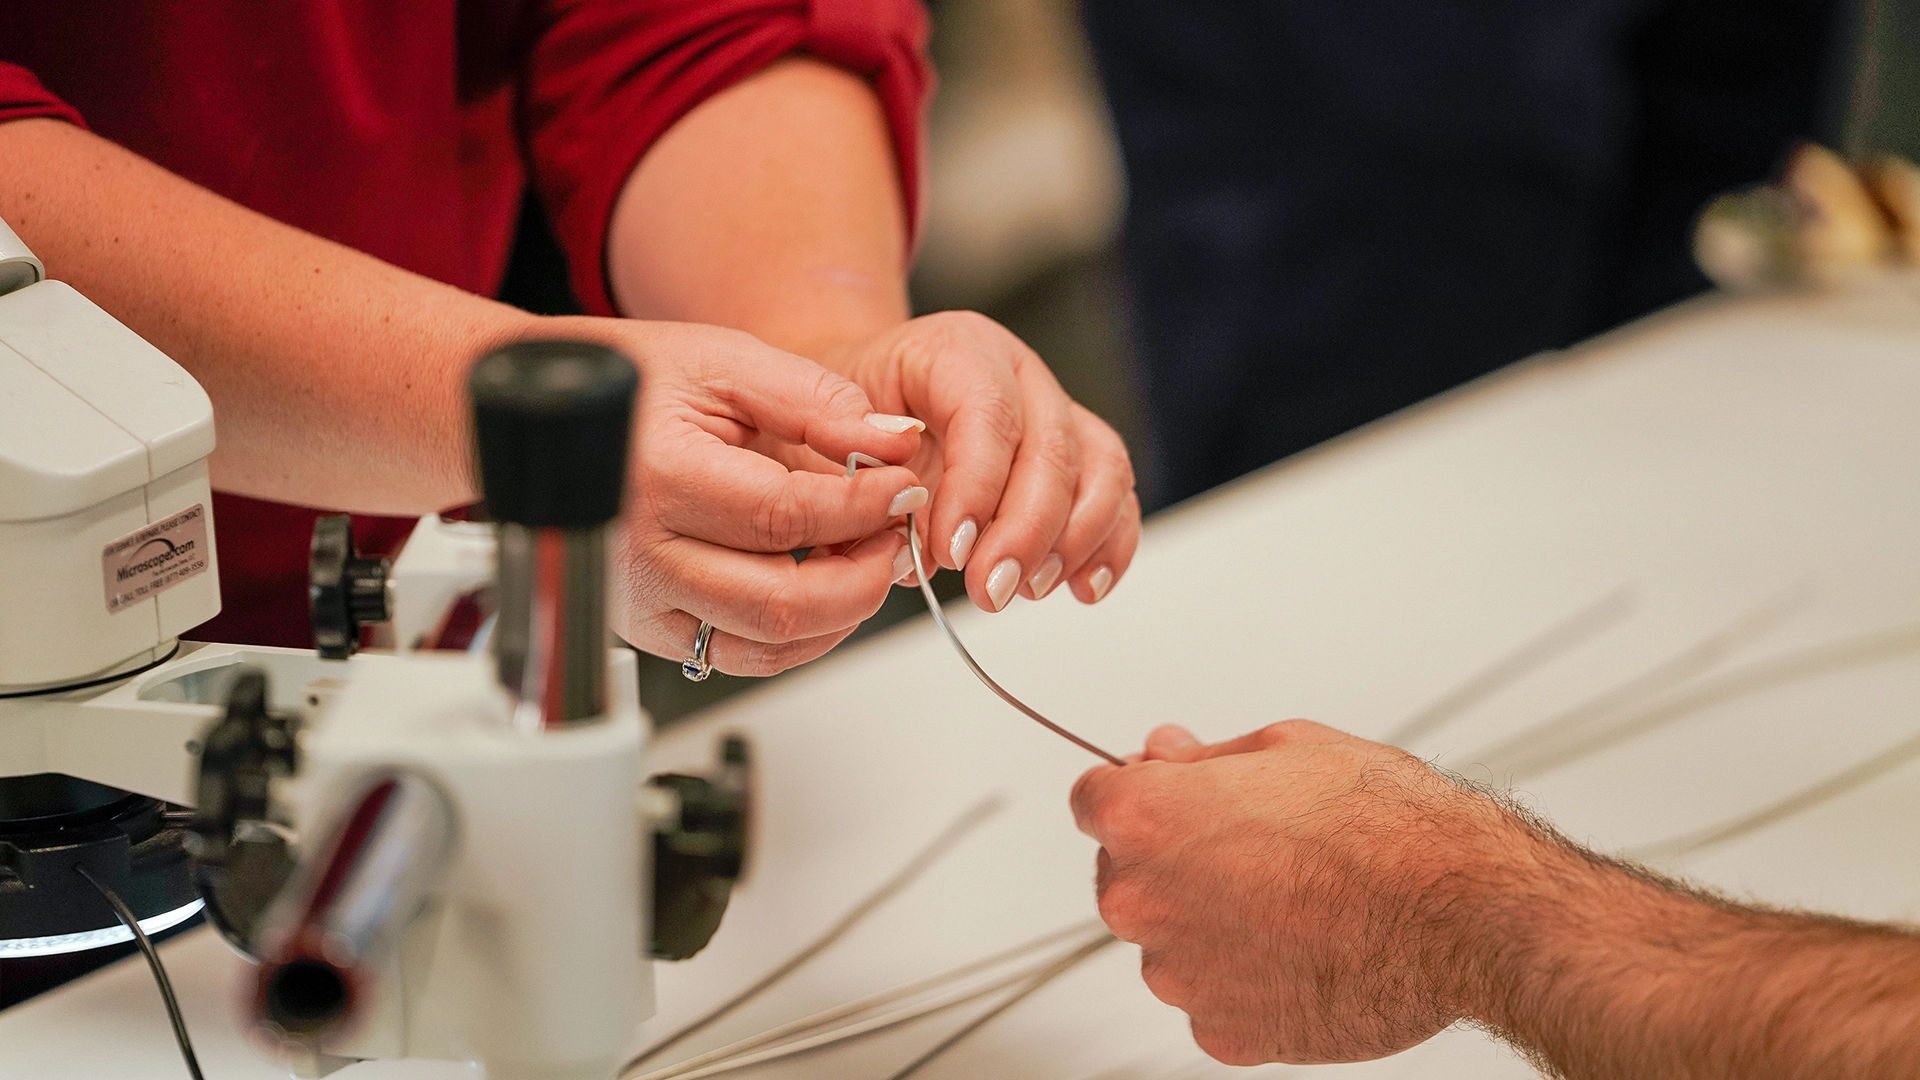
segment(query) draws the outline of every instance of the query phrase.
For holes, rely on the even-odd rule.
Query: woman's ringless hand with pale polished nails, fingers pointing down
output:
[[[1127,448],[1006,327],[943,311],[816,352],[876,409],[925,421],[908,465],[933,490],[927,550],[966,571],[975,605],[1060,582],[1094,603],[1127,573],[1140,540]]]

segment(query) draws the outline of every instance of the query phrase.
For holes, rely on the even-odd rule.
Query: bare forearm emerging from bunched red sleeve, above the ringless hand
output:
[[[906,319],[906,213],[874,90],[791,58],[703,102],[628,179],[607,269],[626,315],[822,361]]]

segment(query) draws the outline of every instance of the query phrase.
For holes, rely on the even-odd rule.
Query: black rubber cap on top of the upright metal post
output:
[[[591,528],[620,513],[639,373],[588,342],[518,342],[467,377],[493,521]]]

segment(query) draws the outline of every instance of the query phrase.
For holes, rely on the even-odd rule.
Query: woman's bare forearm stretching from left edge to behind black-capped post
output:
[[[60,121],[0,125],[0,217],[213,398],[213,482],[371,513],[472,498],[461,379],[536,321]]]

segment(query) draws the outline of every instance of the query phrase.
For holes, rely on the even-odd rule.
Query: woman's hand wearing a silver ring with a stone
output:
[[[612,542],[611,625],[624,640],[685,657],[701,621],[708,661],[774,675],[831,650],[912,569],[904,528],[927,490],[899,463],[918,425],[876,415],[824,367],[737,331],[626,319],[553,319],[543,332],[622,350],[641,400],[628,498]],[[893,465],[837,473],[783,461]],[[789,552],[812,548],[804,561]]]

